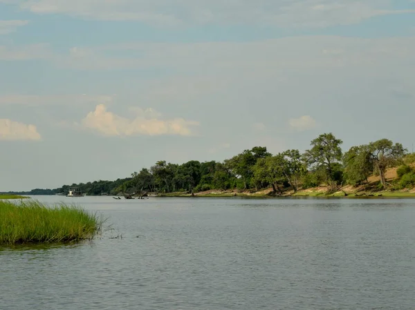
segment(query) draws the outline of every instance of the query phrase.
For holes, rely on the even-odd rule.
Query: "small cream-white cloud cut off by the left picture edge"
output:
[[[40,140],[41,136],[34,125],[0,119],[0,140]]]

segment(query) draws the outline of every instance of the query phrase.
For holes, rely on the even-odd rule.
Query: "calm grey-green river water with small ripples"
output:
[[[1,310],[415,309],[415,200],[36,198],[113,230],[0,248]]]

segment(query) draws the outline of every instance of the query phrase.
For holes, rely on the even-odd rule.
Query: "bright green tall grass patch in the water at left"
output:
[[[93,238],[102,220],[77,206],[0,201],[0,244],[76,242]]]

